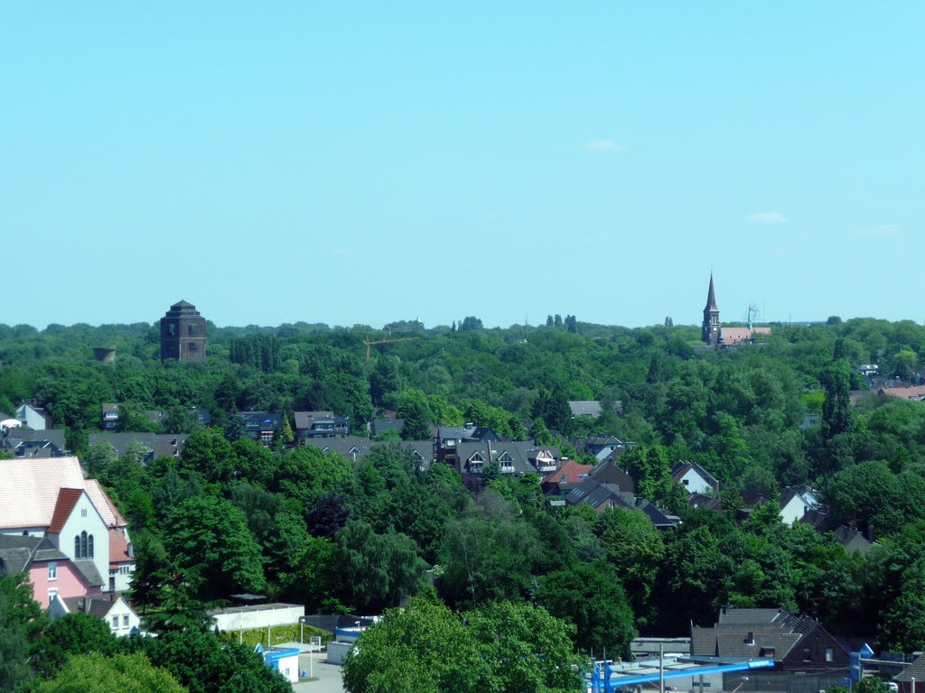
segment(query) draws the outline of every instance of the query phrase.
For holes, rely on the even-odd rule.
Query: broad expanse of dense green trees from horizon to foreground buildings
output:
[[[0,411],[33,400],[67,429],[68,448],[129,519],[133,599],[154,622],[242,591],[314,613],[374,613],[423,595],[460,612],[542,608],[578,648],[617,652],[635,633],[709,625],[731,603],[876,634],[882,649],[925,648],[925,403],[849,400],[865,385],[857,364],[915,377],[925,328],[830,320],[716,350],[697,346],[697,326],[475,325],[393,331],[422,339],[369,360],[365,329],[210,326],[207,358],[192,363],[161,362],[147,323],[0,325]],[[93,361],[100,344],[117,359]],[[591,399],[601,416],[572,419],[567,401]],[[137,448],[116,459],[88,447],[103,402],[205,407],[215,425],[169,418],[172,432],[191,433],[183,455],[142,466]],[[637,442],[621,464],[683,522],[660,532],[638,511],[551,508],[536,477],[489,471],[467,484],[445,466],[422,471],[399,446],[358,463],[282,440],[267,449],[233,423],[243,410],[334,410],[360,430],[383,408],[531,436],[579,460],[572,442],[589,434]],[[808,413],[820,423],[801,428]],[[725,511],[686,504],[669,474],[679,460],[722,482]],[[736,518],[739,492],[775,498],[798,484],[878,543],[847,554],[831,534],[781,524],[776,503]]]

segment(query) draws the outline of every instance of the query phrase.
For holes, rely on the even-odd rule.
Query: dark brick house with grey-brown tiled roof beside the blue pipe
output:
[[[844,672],[848,652],[813,618],[786,609],[726,607],[714,626],[691,627],[694,656],[757,659],[767,657],[787,673]]]

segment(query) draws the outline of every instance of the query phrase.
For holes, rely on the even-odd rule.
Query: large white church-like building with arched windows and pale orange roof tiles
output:
[[[77,457],[0,460],[0,478],[0,534],[48,542],[80,573],[82,594],[128,589],[128,522],[98,481],[83,478]]]

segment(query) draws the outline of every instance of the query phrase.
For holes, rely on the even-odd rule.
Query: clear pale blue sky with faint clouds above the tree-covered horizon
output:
[[[137,5],[137,4],[136,4]],[[0,322],[921,322],[925,3],[5,3]]]

